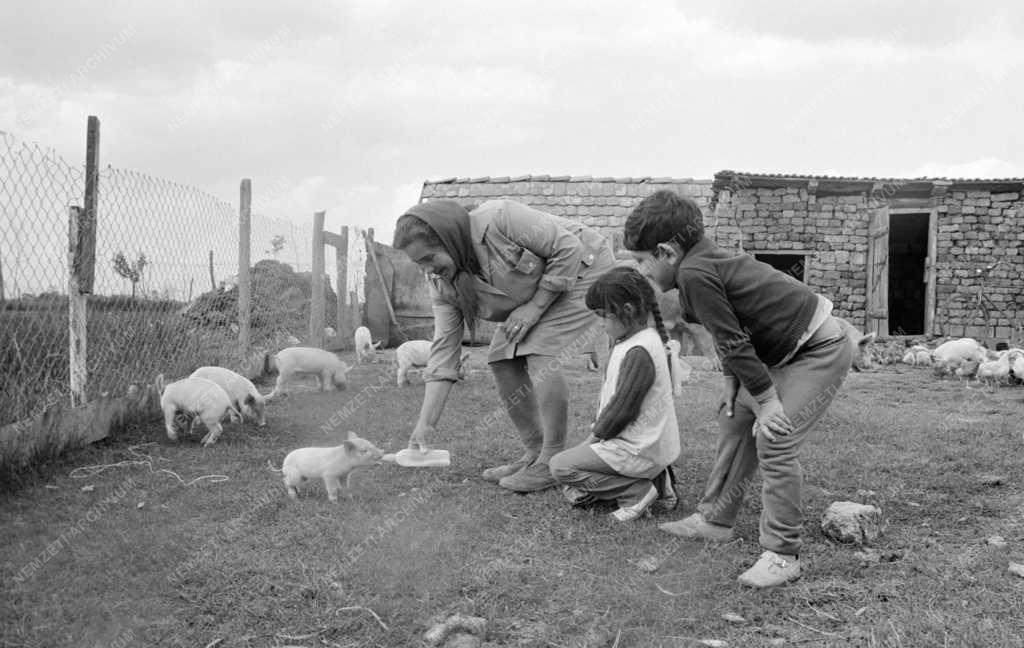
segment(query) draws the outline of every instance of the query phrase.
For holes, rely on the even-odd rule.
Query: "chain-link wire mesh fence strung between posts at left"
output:
[[[70,397],[69,209],[84,190],[83,166],[0,132],[0,426]],[[195,187],[99,171],[86,398],[203,364],[251,376],[265,350],[308,333],[310,232],[253,215],[241,348],[239,223],[236,206]]]

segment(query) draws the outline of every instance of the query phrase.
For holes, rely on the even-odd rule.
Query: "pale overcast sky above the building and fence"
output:
[[[35,0],[0,130],[388,240],[447,176],[1020,177],[1022,6]]]

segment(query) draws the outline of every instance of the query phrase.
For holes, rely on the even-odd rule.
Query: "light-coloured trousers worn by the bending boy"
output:
[[[715,524],[733,526],[743,495],[761,469],[761,546],[797,555],[803,529],[804,470],[800,449],[825,413],[850,371],[853,349],[835,317],[828,317],[784,365],[769,369],[775,391],[793,423],[790,434],[775,440],[752,436],[759,409],[739,389],[733,416],[718,412],[718,449],[697,510]]]

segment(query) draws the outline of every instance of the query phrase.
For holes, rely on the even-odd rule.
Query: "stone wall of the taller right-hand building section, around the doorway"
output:
[[[795,179],[771,186],[740,177],[722,187],[717,217],[728,244],[750,253],[808,252],[805,280],[836,304],[836,313],[866,323],[868,224],[879,210],[935,210],[936,309],[932,334],[1024,344],[1024,201],[1021,181],[833,179],[826,195],[815,182]],[[733,177],[733,184],[735,178]],[[912,185],[912,186],[911,186]],[[874,189],[865,187],[874,187]],[[884,191],[879,187],[887,187]],[[924,188],[923,188],[924,187]],[[1016,190],[1007,190],[1016,188]],[[725,242],[720,242],[725,243]],[[998,265],[985,279],[994,308],[988,327],[974,305],[979,270]],[[895,329],[895,327],[894,327]],[[898,331],[892,331],[897,334]],[[929,332],[926,332],[928,334]]]

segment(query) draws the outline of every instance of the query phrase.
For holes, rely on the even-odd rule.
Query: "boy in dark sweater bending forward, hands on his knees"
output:
[[[703,235],[693,201],[645,198],[626,221],[626,248],[662,291],[679,289],[683,317],[702,325],[722,359],[719,440],[697,512],[660,528],[726,542],[758,469],[764,553],[739,582],[766,588],[800,576],[800,448],[850,368],[852,349],[831,302],[746,254]]]

